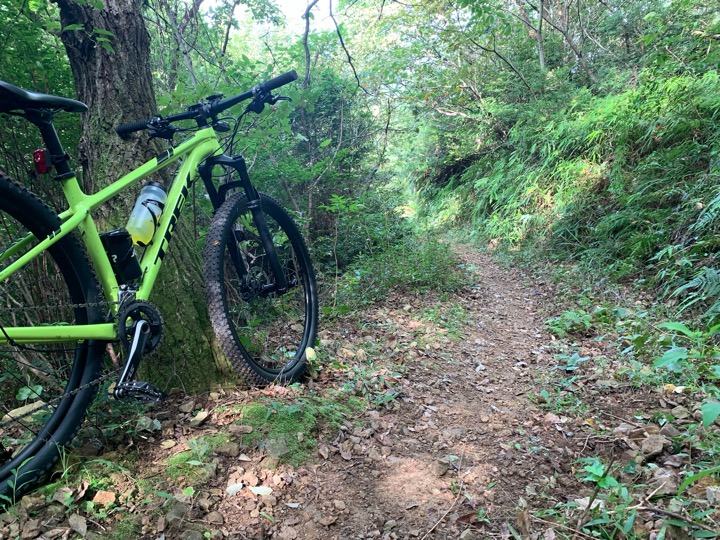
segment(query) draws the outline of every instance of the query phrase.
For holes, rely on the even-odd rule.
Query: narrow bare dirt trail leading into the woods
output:
[[[466,312],[462,340],[439,338],[431,342],[439,347],[405,361],[398,406],[367,415],[374,433],[359,451],[375,449],[369,458],[333,456],[317,467],[310,480],[322,489],[305,508],[312,519],[303,538],[457,538],[480,508],[515,526],[526,486],[552,476],[558,431],[536,422],[529,401],[538,392],[535,371],[547,369],[538,305],[551,298],[487,256],[465,258],[476,279],[452,299]],[[411,328],[416,307],[388,316]],[[337,519],[323,526],[330,515]]]

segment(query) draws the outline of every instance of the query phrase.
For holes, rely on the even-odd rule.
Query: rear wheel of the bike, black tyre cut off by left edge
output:
[[[0,271],[59,223],[35,195],[0,176]],[[0,283],[0,336],[11,327],[98,322],[96,296],[83,250],[66,236]],[[14,504],[73,438],[95,394],[102,354],[102,344],[91,341],[0,344],[0,506]]]

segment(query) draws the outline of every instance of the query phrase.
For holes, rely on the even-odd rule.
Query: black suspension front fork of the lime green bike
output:
[[[215,184],[212,181],[212,170],[213,167],[215,167],[216,165],[234,169],[238,173],[240,180],[226,182],[222,184],[218,189],[216,189]],[[210,196],[210,201],[212,202],[213,208],[215,210],[220,208],[222,203],[225,202],[227,193],[231,189],[242,188],[243,191],[245,191],[248,208],[252,213],[253,221],[255,222],[255,226],[257,227],[258,235],[260,236],[260,241],[262,242],[263,249],[265,250],[265,254],[268,257],[268,262],[270,263],[270,270],[275,277],[275,284],[272,287],[272,290],[268,290],[267,292],[274,292],[278,295],[284,294],[288,288],[287,277],[285,276],[285,272],[280,265],[280,260],[278,259],[277,251],[275,250],[275,244],[273,243],[272,236],[268,229],[267,221],[265,220],[265,214],[262,211],[260,193],[250,182],[250,175],[248,175],[247,172],[245,159],[241,155],[236,155],[233,157],[226,155],[212,156],[206,159],[205,162],[199,167],[199,172],[200,177],[205,184],[205,189],[207,189],[208,195]],[[237,242],[232,242],[228,247],[230,249],[230,257],[233,260],[238,275],[241,279],[247,278],[247,270],[245,269],[245,263],[242,260],[242,255],[240,254],[240,250],[238,249]]]

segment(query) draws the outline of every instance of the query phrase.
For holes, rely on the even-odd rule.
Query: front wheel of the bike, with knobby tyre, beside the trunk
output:
[[[297,381],[317,333],[315,273],[300,231],[275,199],[260,194],[287,290],[278,292],[243,193],[223,203],[205,246],[205,294],[215,335],[249,383]]]

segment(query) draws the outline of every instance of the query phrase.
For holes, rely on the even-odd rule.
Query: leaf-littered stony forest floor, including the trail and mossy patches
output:
[[[393,297],[323,324],[307,385],[175,394],[121,442],[84,449],[0,516],[0,539],[588,538],[578,524],[610,476],[646,486],[615,537],[657,537],[683,517],[658,497],[690,459],[687,396],[586,361],[565,364],[559,388],[553,288],[463,257],[473,285],[460,294]],[[617,354],[592,336],[572,346],[597,365]],[[657,410],[673,422],[652,421]],[[612,468],[583,482],[595,457]],[[711,484],[693,486],[709,508]]]

